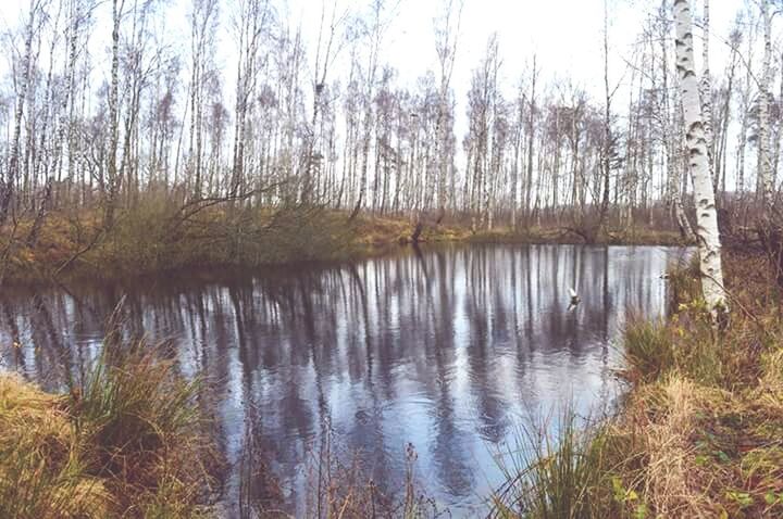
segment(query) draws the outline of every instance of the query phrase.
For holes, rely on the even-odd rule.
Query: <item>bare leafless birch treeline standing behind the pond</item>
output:
[[[351,11],[324,0],[313,7],[318,34],[303,34],[274,0],[192,0],[183,51],[166,40],[164,8],[30,0],[2,42],[11,67],[0,97],[0,225],[35,219],[34,242],[48,211],[99,207],[110,228],[119,210],[154,192],[190,206],[456,215],[474,228],[549,218],[587,241],[609,218],[692,233],[669,0],[647,5],[622,69],[610,67],[605,2],[601,99],[545,80],[535,55],[520,60],[526,69],[508,94],[501,73],[523,63],[504,61],[496,36],[470,85],[453,85],[460,0],[439,5],[436,66],[414,86],[382,61],[395,9],[407,7],[372,0]],[[709,2],[701,8],[697,36],[710,34]],[[731,34],[712,35],[728,63],[710,69],[703,46],[699,94],[719,204],[776,191],[776,9],[772,0],[738,4]],[[110,45],[97,50],[107,22]],[[232,66],[219,35],[232,42]],[[458,107],[467,111],[464,135],[456,131]]]

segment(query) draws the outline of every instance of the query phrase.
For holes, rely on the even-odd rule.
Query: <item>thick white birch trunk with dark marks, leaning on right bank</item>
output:
[[[698,80],[694,65],[693,28],[689,0],[674,0],[676,23],[676,69],[680,78],[687,139],[688,167],[696,197],[696,221],[699,242],[701,291],[713,317],[728,308],[723,288],[721,242],[718,213],[707,156],[707,140],[701,123]]]

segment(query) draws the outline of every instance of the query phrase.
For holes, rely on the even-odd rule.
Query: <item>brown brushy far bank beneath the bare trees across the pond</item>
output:
[[[145,201],[120,213],[107,231],[97,212],[52,212],[29,243],[32,221],[0,232],[0,283],[126,279],[186,267],[248,267],[346,261],[385,254],[411,243],[410,217],[322,208],[225,210],[190,214],[164,201]],[[470,223],[426,221],[419,241],[494,243],[583,243],[556,225],[471,229]],[[608,228],[598,244],[682,245],[679,233],[645,226]]]

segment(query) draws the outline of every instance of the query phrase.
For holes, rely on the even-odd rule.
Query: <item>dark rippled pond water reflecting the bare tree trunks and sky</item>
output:
[[[78,378],[125,295],[126,327],[173,338],[178,369],[209,377],[235,468],[227,515],[250,439],[301,515],[307,461],[326,434],[387,492],[400,488],[412,443],[424,489],[470,515],[501,480],[494,456],[520,427],[569,401],[582,414],[611,406],[619,330],[633,312],[663,315],[660,276],[685,254],[474,245],[217,280],[5,289],[0,367],[48,387]],[[582,298],[573,311],[571,287]]]

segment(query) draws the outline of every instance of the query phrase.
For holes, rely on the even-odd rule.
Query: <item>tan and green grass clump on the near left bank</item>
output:
[[[197,517],[213,455],[196,389],[144,343],[67,394],[0,376],[0,517]]]

